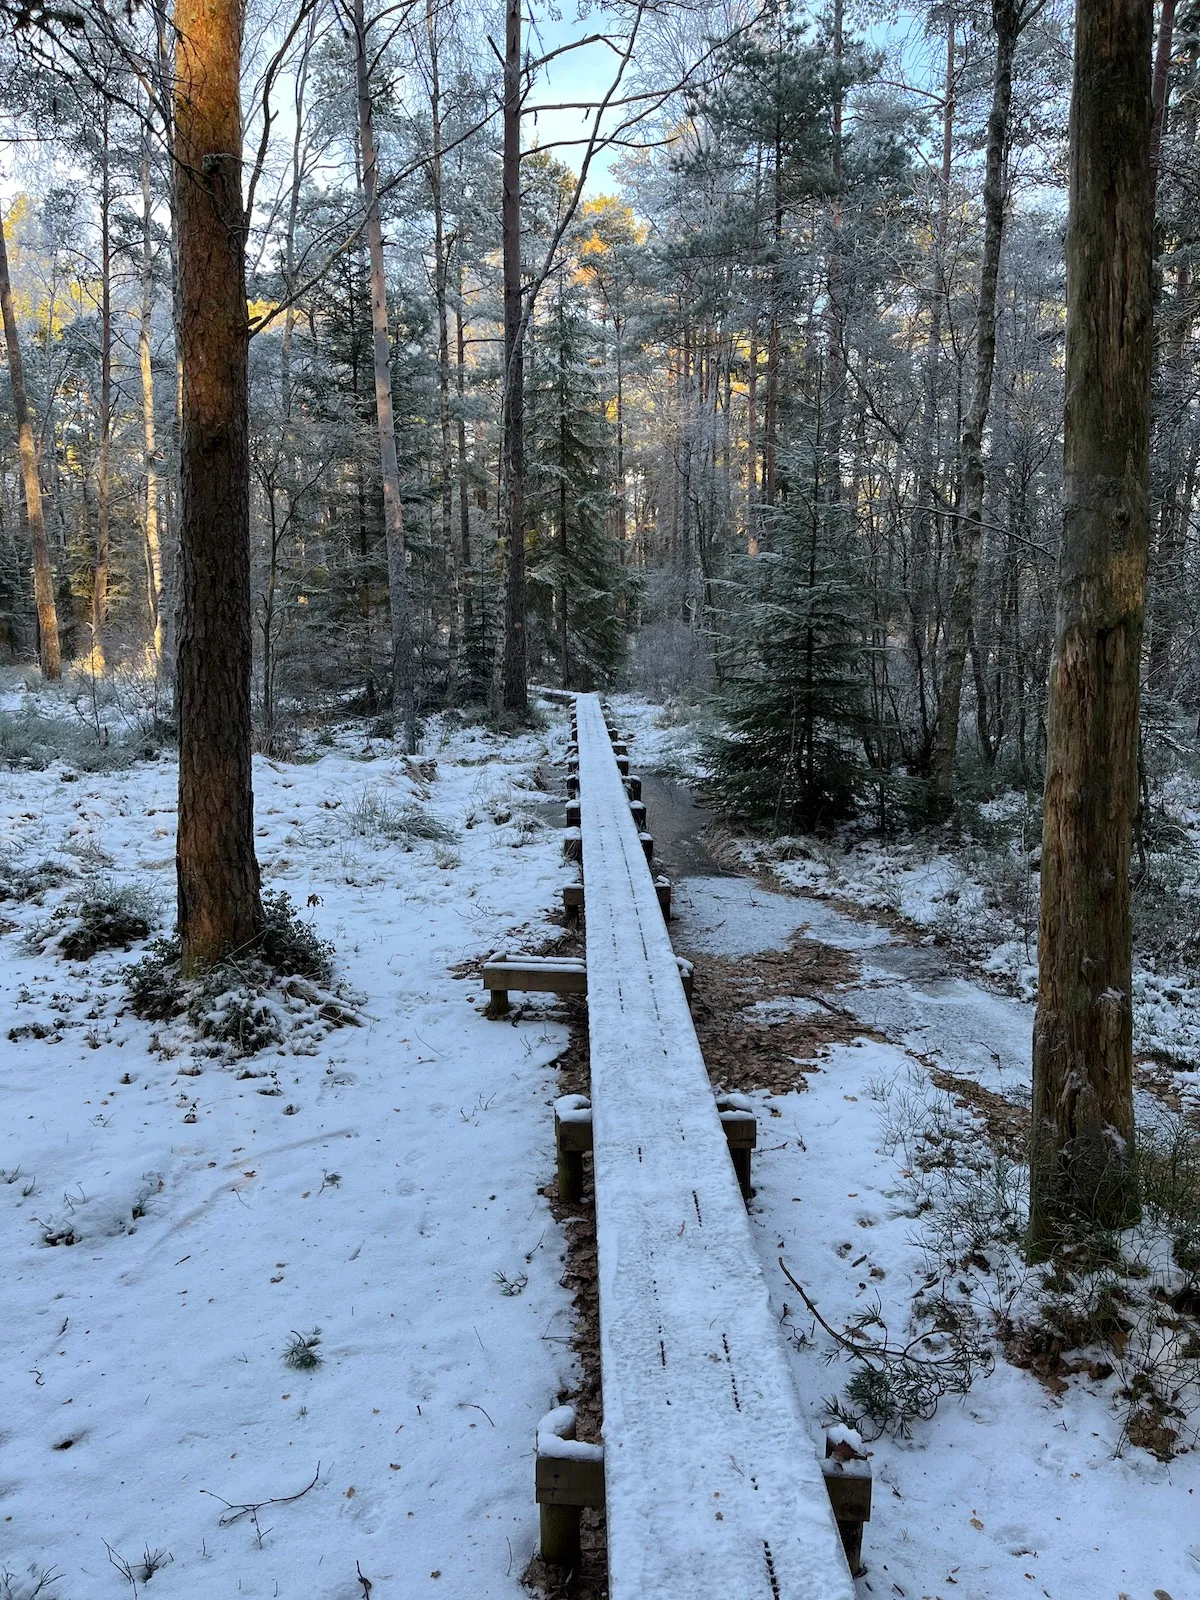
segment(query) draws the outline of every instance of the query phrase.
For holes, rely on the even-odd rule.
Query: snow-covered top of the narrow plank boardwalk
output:
[[[600,701],[576,707],[611,1600],[851,1600]]]

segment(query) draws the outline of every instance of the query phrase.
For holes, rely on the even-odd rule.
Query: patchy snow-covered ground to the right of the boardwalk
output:
[[[877,1302],[891,1338],[902,1341],[914,1296],[930,1288],[954,1296],[957,1275],[947,1267],[939,1280],[934,1266],[930,1285],[912,1152],[898,1138],[898,1117],[906,1109],[920,1117],[941,1099],[941,1117],[979,1144],[979,1123],[938,1094],[928,1067],[1021,1104],[1032,1010],[939,976],[936,952],[827,901],[771,894],[750,878],[693,878],[680,886],[677,907],[675,939],[686,950],[752,958],[800,930],[851,950],[859,976],[829,998],[886,1035],[832,1045],[806,1072],[805,1093],[755,1096],[755,1234],[794,1334],[802,1400],[819,1419],[853,1365],[778,1259],[837,1330]],[[878,1336],[880,1325],[870,1331]],[[914,1422],[910,1438],[885,1434],[870,1443],[875,1499],[859,1592],[926,1600],[1198,1595],[1200,1454],[1165,1464],[1123,1445],[1114,1389],[1112,1379],[1080,1374],[1054,1395],[998,1357],[966,1395],[942,1397],[930,1421]]]

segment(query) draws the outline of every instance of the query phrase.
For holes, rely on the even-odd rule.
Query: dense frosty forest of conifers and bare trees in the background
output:
[[[398,573],[418,709],[501,704],[502,21],[453,0],[251,5],[254,714],[269,752],[315,698],[390,712]],[[1038,786],[1067,8],[934,5],[883,24],[842,0],[622,3],[550,22],[542,38],[533,19],[522,74],[530,677],[715,690],[760,774],[734,760],[726,790],[787,822],[854,797],[885,814],[890,795],[944,808],[963,776]],[[1155,61],[1146,782],[1200,715],[1198,24],[1166,0]],[[138,10],[59,46],[16,30],[0,70],[0,200],[62,658],[88,694],[107,683],[163,720],[179,499],[168,34]],[[573,53],[594,35],[608,43]],[[616,62],[598,90],[590,66],[563,74],[597,48]],[[67,69],[46,72],[54,50]],[[18,432],[2,384],[0,653],[14,664],[38,656]]]

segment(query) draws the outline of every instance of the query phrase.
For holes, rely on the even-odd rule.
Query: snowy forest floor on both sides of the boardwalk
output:
[[[616,706],[643,771],[688,773],[686,728]],[[256,757],[264,885],[333,976],[248,998],[234,971],[154,1022],[123,978],[146,938],[64,946],[106,899],[166,930],[174,763],[64,760],[43,694],[0,712],[0,1597],[46,1571],[42,1600],[142,1594],[154,1568],[163,1600],[518,1600],[533,1429],[579,1386],[590,1294],[542,1192],[579,1016],[523,997],[488,1021],[472,974],[562,936],[560,714],[520,739],[434,718],[418,762],[349,723]],[[758,1102],[752,1218],[814,1437],[832,1397],[891,1408],[859,1594],[1200,1592],[1170,1243],[1147,1222],[1136,1262],[1050,1288],[1019,1261],[1030,1005],[976,926],[987,885],[646,798],[710,1074]],[[1195,1083],[1165,987],[1190,990],[1158,982],[1178,1050],[1146,1056],[1147,1120]]]

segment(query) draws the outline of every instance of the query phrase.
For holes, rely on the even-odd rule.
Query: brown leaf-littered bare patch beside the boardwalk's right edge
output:
[[[725,1091],[808,1088],[805,1075],[832,1045],[870,1034],[829,997],[858,976],[846,950],[797,934],[786,950],[736,960],[685,954],[696,966],[696,1035],[709,1077]]]

